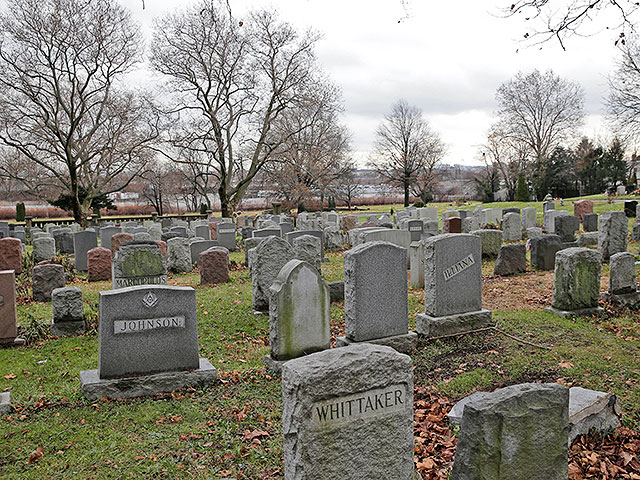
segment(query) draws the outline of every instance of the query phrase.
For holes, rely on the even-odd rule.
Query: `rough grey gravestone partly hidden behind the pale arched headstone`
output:
[[[255,247],[249,260],[254,311],[269,310],[269,289],[282,267],[294,257],[293,247],[280,237],[269,237]]]

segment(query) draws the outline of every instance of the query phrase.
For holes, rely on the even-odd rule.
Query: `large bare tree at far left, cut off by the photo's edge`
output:
[[[24,184],[69,195],[83,225],[95,198],[141,171],[157,136],[119,82],[140,52],[139,27],[115,0],[7,0],[0,13],[0,141],[41,175]]]

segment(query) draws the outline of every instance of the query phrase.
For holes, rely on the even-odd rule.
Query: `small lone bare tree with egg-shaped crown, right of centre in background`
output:
[[[412,186],[433,171],[444,153],[444,143],[420,109],[399,100],[376,131],[370,164],[387,182],[402,187],[406,207]]]

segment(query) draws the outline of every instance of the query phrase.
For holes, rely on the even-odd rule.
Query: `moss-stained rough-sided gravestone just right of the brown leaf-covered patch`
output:
[[[602,313],[600,298],[600,254],[589,248],[566,248],[556,254],[553,300],[547,310],[569,316]]]

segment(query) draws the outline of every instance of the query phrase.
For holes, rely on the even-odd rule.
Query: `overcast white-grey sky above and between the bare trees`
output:
[[[150,37],[153,18],[190,0],[121,0]],[[403,6],[403,3],[406,6]],[[572,38],[563,51],[520,42],[523,19],[500,18],[510,0],[231,0],[236,16],[274,7],[300,29],[323,34],[318,59],[342,89],[344,123],[362,165],[377,125],[404,98],[422,109],[448,145],[446,163],[478,164],[478,152],[497,109],[495,91],[518,71],[553,69],[579,82],[588,118],[584,133],[606,137],[603,101],[618,56],[605,18],[588,38]],[[401,20],[399,22],[399,20]],[[598,33],[597,29],[602,31]]]

